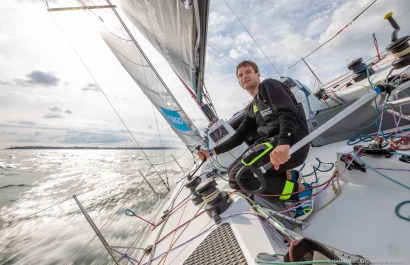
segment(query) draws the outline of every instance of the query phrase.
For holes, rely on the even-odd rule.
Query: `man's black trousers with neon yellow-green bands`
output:
[[[300,137],[300,139],[303,137]],[[277,146],[277,141],[271,142],[273,149]],[[251,145],[244,153],[248,150],[251,150],[256,144]],[[286,170],[298,167],[303,164],[306,160],[306,157],[309,153],[310,144],[305,145],[304,147],[300,148],[298,151],[291,155],[291,158],[284,164],[280,165],[278,170],[275,170],[273,167],[268,170],[264,175],[263,178],[266,181],[266,189],[262,192],[264,194],[288,194],[292,192],[296,192],[299,189],[298,183],[292,183],[288,181],[286,178]],[[272,149],[272,150],[273,150]],[[270,152],[266,153],[264,156],[259,158],[259,160],[254,164],[255,167],[264,166],[266,163],[270,162],[269,159]],[[239,170],[244,166],[242,163],[242,156],[237,158],[228,168],[228,176],[229,176],[229,186],[232,189],[239,190],[240,187],[236,183],[236,176]],[[249,190],[257,190],[260,188],[260,182],[256,179],[252,172],[246,172],[241,177],[242,184],[248,188]],[[280,199],[288,200],[294,199],[296,196],[281,196]]]

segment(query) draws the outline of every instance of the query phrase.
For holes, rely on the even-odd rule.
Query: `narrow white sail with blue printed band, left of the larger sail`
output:
[[[85,5],[86,1],[79,1]],[[111,4],[109,1],[107,1]],[[88,4],[92,4],[91,1]],[[102,37],[175,133],[193,151],[202,137],[161,79],[115,9],[92,11],[103,23]]]

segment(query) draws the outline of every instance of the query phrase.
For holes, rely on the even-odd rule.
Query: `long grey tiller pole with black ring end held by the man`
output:
[[[359,98],[356,102],[354,102],[352,105],[347,107],[345,110],[341,111],[339,114],[337,114],[336,116],[334,116],[333,118],[325,122],[322,126],[317,128],[310,134],[306,135],[302,140],[294,144],[289,150],[289,155],[292,155],[293,153],[298,151],[303,146],[309,144],[316,137],[320,136],[322,133],[326,132],[328,129],[333,127],[336,123],[346,118],[353,111],[357,110],[358,108],[366,104],[368,101],[372,100],[376,95],[380,94],[381,92],[386,92],[386,91],[388,90],[385,87],[379,87],[379,86],[375,87],[368,94]],[[250,194],[262,193],[266,189],[266,181],[263,178],[263,175],[272,167],[273,167],[273,164],[270,162],[260,168],[255,168],[253,166],[244,166],[239,170],[238,174],[236,175],[236,183],[241,188],[241,190],[243,190],[246,193],[250,193]],[[254,177],[258,179],[258,181],[261,184],[261,186],[256,190],[249,190],[242,183],[243,174],[249,171],[253,173]]]

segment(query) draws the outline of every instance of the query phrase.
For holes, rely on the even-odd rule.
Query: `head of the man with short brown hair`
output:
[[[236,66],[236,76],[239,85],[251,94],[256,96],[259,89],[259,69],[252,61],[243,61]]]

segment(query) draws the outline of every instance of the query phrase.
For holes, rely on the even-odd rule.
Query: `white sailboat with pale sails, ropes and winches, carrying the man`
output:
[[[93,6],[92,1],[78,2],[84,8]],[[211,148],[228,139],[244,110],[228,120],[218,119],[206,93],[210,1],[124,0],[117,6],[111,1],[107,4],[106,8],[90,11],[105,28],[104,41],[187,148],[194,152],[197,146]],[[133,37],[125,18],[117,12],[120,7],[167,60],[181,86],[196,101],[210,124],[205,137]],[[410,221],[409,127],[399,123],[410,115],[410,37],[399,38],[397,22],[391,14],[386,19],[393,27],[388,52],[368,62],[355,59],[347,74],[322,85],[319,92],[313,93],[296,79],[281,78],[304,104],[309,120],[311,133],[298,143],[312,143],[309,156],[299,169],[303,181],[315,187],[314,212],[308,219],[294,218],[292,205],[266,199],[253,191],[229,188],[226,167],[246,150],[249,143],[245,142],[216,159],[193,165],[151,220],[129,211],[147,222],[134,245],[125,250],[115,248],[100,237],[114,262],[410,263],[410,237],[406,235]],[[378,94],[383,96],[377,97]],[[384,116],[387,113],[389,119]],[[344,120],[346,117],[350,120]],[[359,138],[347,145],[347,140],[362,132],[359,125],[370,128],[363,133],[375,133],[372,142]],[[386,126],[386,133],[381,130],[382,125]],[[257,175],[263,169],[250,170]]]

